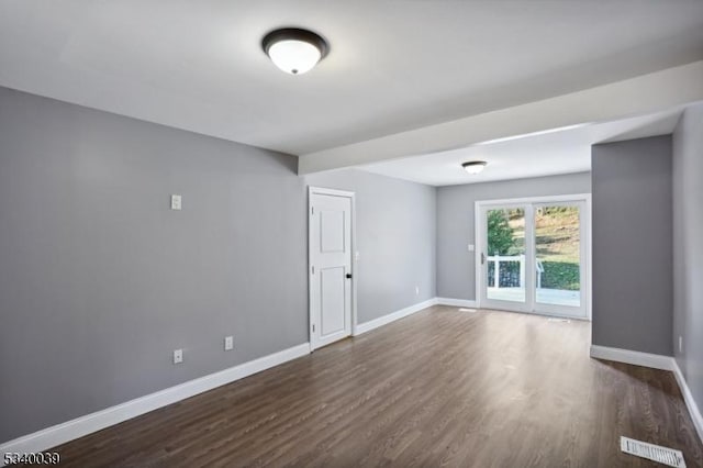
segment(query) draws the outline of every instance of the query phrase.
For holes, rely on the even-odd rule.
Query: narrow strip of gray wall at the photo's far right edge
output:
[[[673,132],[673,346],[699,408],[703,408],[702,176],[703,104],[699,104],[685,110]]]

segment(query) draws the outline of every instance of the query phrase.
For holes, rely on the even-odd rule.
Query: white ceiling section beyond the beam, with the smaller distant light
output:
[[[431,186],[477,183],[591,170],[591,145],[673,131],[682,108],[615,122],[576,125],[539,134],[429,155],[361,166],[369,172]],[[468,160],[486,160],[479,175],[461,168]]]

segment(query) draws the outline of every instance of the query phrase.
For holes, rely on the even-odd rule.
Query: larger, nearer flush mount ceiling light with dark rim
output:
[[[291,75],[310,71],[327,55],[327,43],[319,34],[297,27],[271,31],[261,40],[271,62]]]

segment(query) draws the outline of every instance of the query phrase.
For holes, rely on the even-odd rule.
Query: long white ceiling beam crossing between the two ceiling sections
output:
[[[527,104],[301,155],[300,175],[419,156],[703,100],[703,60]]]

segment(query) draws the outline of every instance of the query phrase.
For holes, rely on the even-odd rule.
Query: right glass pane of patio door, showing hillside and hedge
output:
[[[536,293],[542,304],[581,305],[579,207],[535,207]]]

